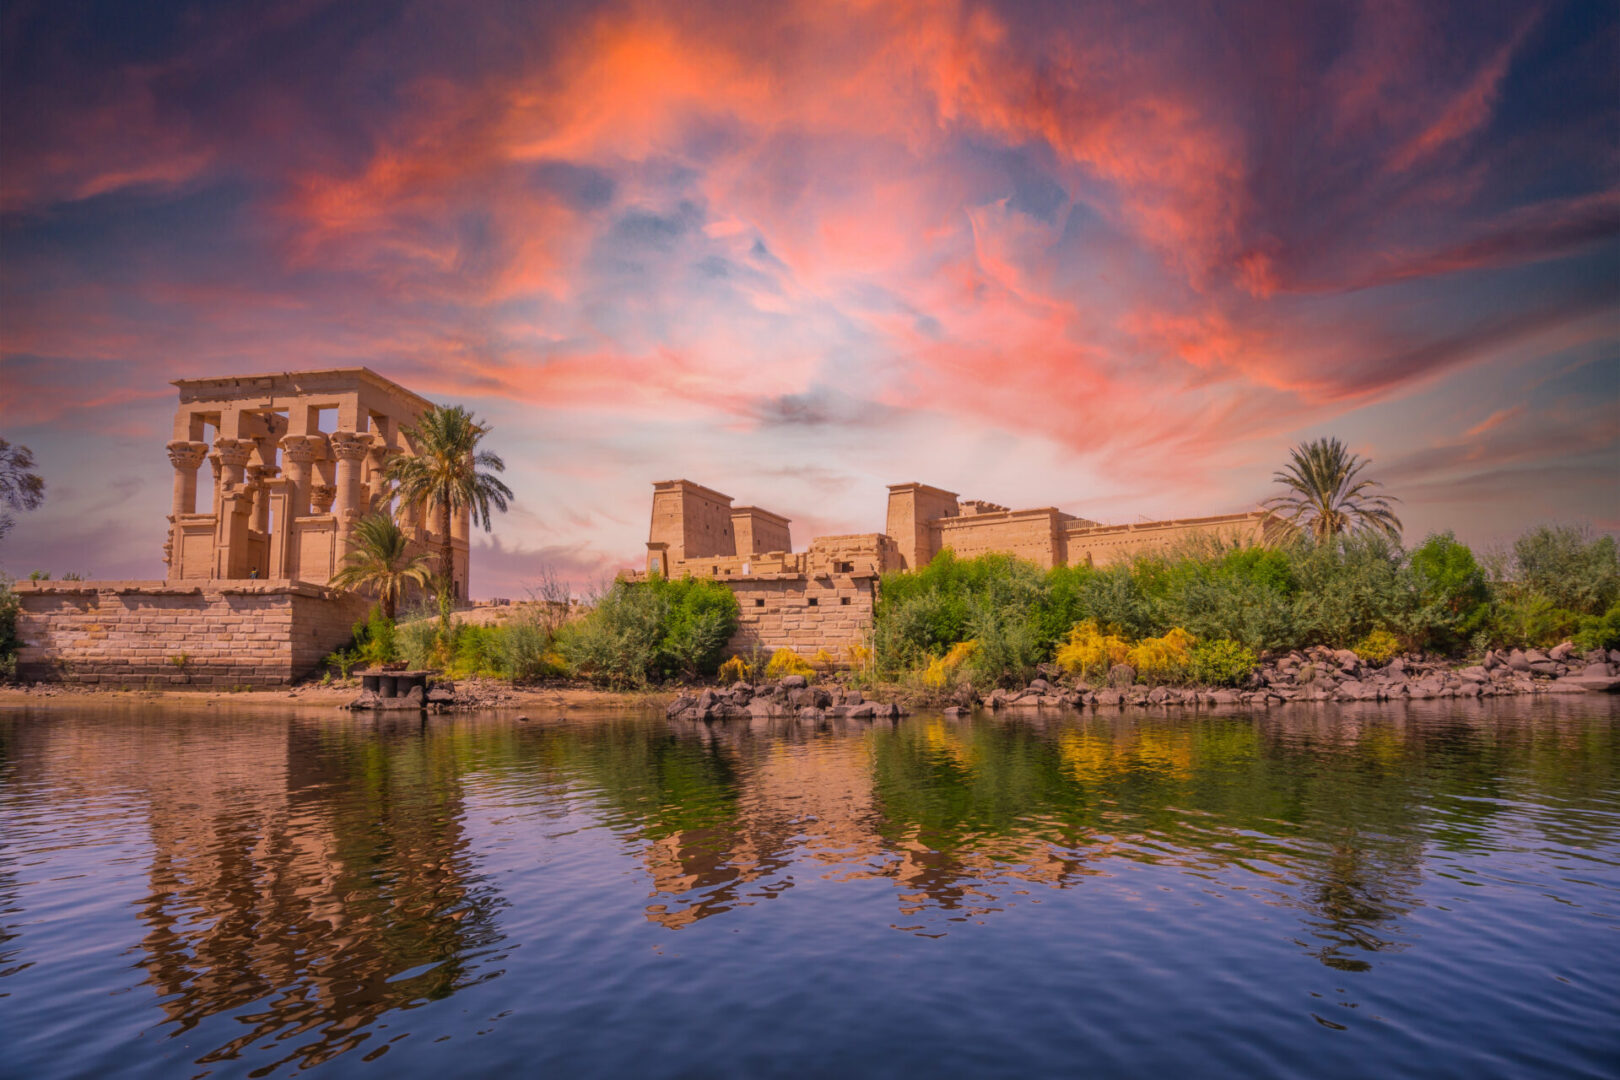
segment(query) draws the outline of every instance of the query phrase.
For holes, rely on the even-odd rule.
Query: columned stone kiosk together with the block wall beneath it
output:
[[[411,453],[405,427],[429,402],[366,368],[175,385],[165,580],[18,583],[21,678],[287,685],[364,619],[369,601],[329,583],[355,523],[387,491],[387,461]],[[413,551],[439,549],[428,507],[399,517]],[[460,597],[470,525],[467,512],[450,523]]]

